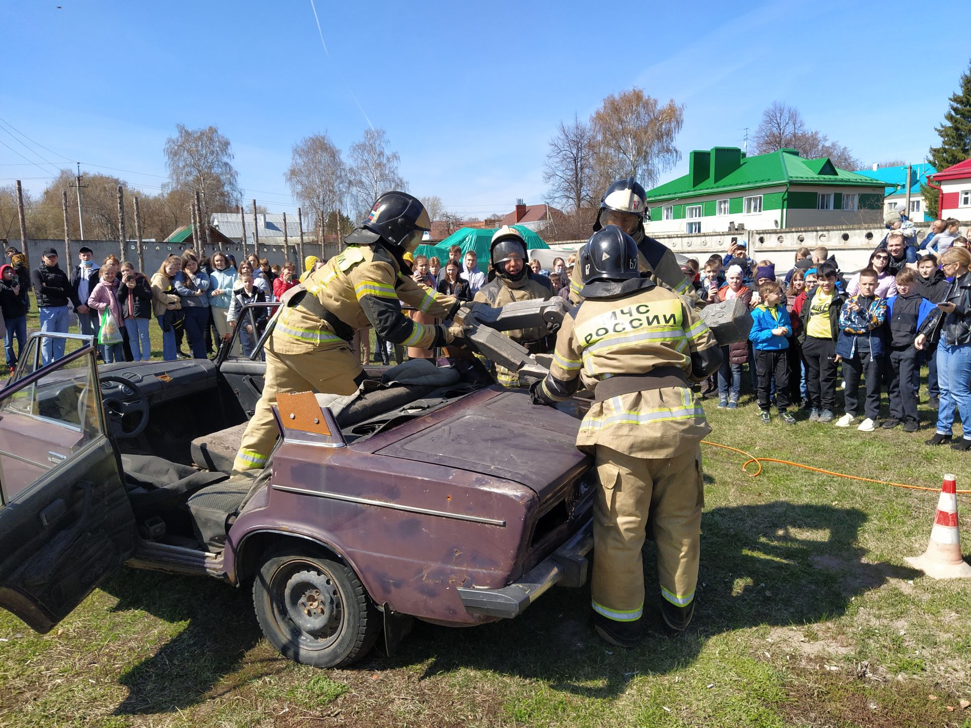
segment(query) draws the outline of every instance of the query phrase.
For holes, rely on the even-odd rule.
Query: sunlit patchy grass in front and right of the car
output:
[[[706,408],[711,440],[755,455],[971,486],[967,455],[925,447],[927,429],[766,426],[748,395]],[[771,463],[750,478],[702,451],[697,611],[678,639],[605,645],[588,589],[554,588],[518,619],[418,623],[392,658],[319,671],[262,639],[248,589],[122,568],[47,636],[0,612],[0,726],[971,726],[971,584],[903,561],[937,496]],[[650,542],[645,563],[655,624]]]

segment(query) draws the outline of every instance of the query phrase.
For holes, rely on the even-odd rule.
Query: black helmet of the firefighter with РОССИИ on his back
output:
[[[641,288],[653,281],[638,271],[637,244],[617,225],[597,230],[580,251],[580,276],[584,298],[611,298]]]

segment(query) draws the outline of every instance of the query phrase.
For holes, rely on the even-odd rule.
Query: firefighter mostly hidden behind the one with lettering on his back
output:
[[[674,252],[663,243],[649,238],[644,232],[646,197],[644,187],[635,182],[633,177],[614,182],[607,187],[600,200],[600,211],[593,222],[593,232],[602,230],[607,225],[617,225],[637,244],[638,269],[641,274],[647,275],[658,285],[673,290],[679,296],[686,296],[694,308],[700,309],[704,303],[686,281]],[[570,276],[570,303],[580,302],[583,277],[578,257]]]

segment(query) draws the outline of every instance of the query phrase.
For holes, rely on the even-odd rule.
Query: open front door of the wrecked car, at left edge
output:
[[[75,350],[37,367],[47,338]],[[34,334],[0,391],[0,607],[48,632],[135,546],[90,337]],[[33,362],[33,364],[31,364]]]

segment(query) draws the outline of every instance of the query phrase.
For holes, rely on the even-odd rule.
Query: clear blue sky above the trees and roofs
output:
[[[50,151],[0,131],[40,165],[0,145],[0,184],[40,192],[30,178],[54,171],[36,151],[157,191],[175,125],[215,124],[246,198],[290,212],[292,145],[326,131],[346,150],[366,115],[412,192],[505,213],[542,201],[560,119],[633,85],[686,105],[684,161],[662,182],[691,149],[741,146],[774,100],[867,163],[920,162],[971,56],[959,31],[942,40],[967,0],[315,2],[329,57],[310,0],[4,0],[0,118]]]

